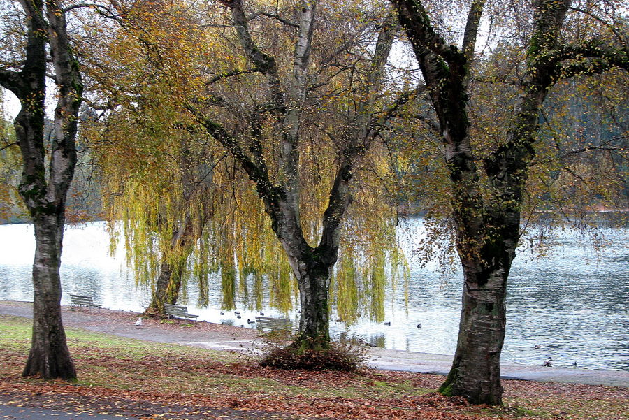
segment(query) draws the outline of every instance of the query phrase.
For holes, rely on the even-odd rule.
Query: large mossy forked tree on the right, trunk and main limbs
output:
[[[463,267],[463,308],[454,362],[440,392],[472,403],[500,404],[500,352],[505,338],[507,277],[516,254],[521,209],[542,103],[558,81],[577,74],[627,69],[626,26],[604,41],[600,32],[570,36],[579,25],[567,20],[572,1],[534,0],[525,59],[516,82],[518,97],[504,140],[480,157],[468,116],[470,78],[475,62],[484,0],[472,0],[461,47],[435,29],[424,2],[392,0],[412,43],[438,119],[451,181],[456,251]],[[526,15],[524,10],[516,8]],[[570,24],[568,24],[569,22]],[[605,31],[600,22],[591,27]],[[484,184],[487,187],[484,188]]]

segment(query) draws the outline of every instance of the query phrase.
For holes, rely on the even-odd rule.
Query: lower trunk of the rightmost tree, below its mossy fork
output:
[[[461,321],[454,362],[439,392],[464,396],[472,404],[503,403],[500,353],[507,322],[507,277],[519,240],[520,212],[517,206],[501,203],[486,209],[480,230],[471,229],[471,224],[457,226],[463,232],[457,238],[464,280]],[[476,241],[469,240],[472,234]]]

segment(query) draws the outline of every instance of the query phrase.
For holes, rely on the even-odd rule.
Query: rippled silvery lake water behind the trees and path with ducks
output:
[[[421,220],[410,222],[409,238],[424,235]],[[540,365],[551,356],[556,366],[577,362],[581,368],[629,370],[629,229],[608,231],[611,242],[602,252],[584,245],[576,233],[557,234],[558,245],[543,259],[514,261],[507,298],[507,337],[503,361]],[[33,228],[0,226],[0,300],[32,300]],[[412,249],[412,240],[407,244]],[[409,252],[409,254],[411,254]],[[403,290],[389,292],[386,320],[391,326],[361,321],[349,333],[381,347],[454,354],[461,310],[461,273],[442,276],[435,263],[420,269],[410,258],[409,304]],[[241,309],[242,319],[219,314],[218,282],[212,284],[210,307],[189,311],[199,319],[239,326],[254,312]],[[62,263],[62,303],[69,293],[88,294],[110,309],[141,311],[149,298],[135,287],[124,268],[124,256],[108,255],[102,222],[66,229]],[[273,310],[266,315],[282,316]],[[295,314],[291,314],[295,317]],[[421,323],[422,328],[417,328]],[[334,334],[346,330],[331,326]],[[541,349],[535,349],[539,345]]]

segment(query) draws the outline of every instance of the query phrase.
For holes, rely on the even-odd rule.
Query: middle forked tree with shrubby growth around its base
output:
[[[294,10],[288,8],[288,13],[284,9],[269,11],[261,7],[263,11],[254,16],[268,17],[281,25],[280,29],[274,29],[273,38],[266,40],[266,51],[261,47],[262,41],[256,41],[261,35],[252,34],[252,18],[245,15],[243,1],[220,3],[229,10],[240,47],[238,54],[243,56],[242,64],[240,68],[212,78],[208,92],[198,95],[199,99],[191,101],[188,108],[254,183],[271,228],[288,258],[301,303],[299,331],[291,348],[297,354],[311,349],[325,350],[330,341],[329,287],[339,257],[342,222],[356,196],[354,178],[375,138],[384,131],[384,122],[392,115],[390,108],[408,99],[403,96],[387,104],[389,96],[383,94],[384,67],[397,24],[390,15],[388,18],[376,16],[368,18],[361,28],[360,20],[366,15],[355,12],[358,25],[349,20],[336,20],[336,24],[352,31],[347,35],[347,42],[333,50],[319,46],[317,64],[313,64],[315,28],[317,24],[323,25],[324,19],[331,19],[331,15],[326,14],[325,18],[317,20],[317,14],[319,8],[326,10],[327,4],[301,1]],[[294,22],[286,16],[291,16]],[[344,53],[356,45],[366,29],[374,28],[374,21],[380,29],[373,52],[365,48],[357,55],[367,59],[356,59],[355,64],[344,61]],[[282,55],[284,45],[292,46],[291,56]],[[348,53],[345,57],[349,56]],[[220,89],[229,92],[226,87],[216,87],[217,82],[234,80],[240,75],[249,75],[247,80],[253,84],[244,95],[226,99],[217,94]],[[354,82],[352,76],[356,78]],[[343,86],[347,80],[351,84]],[[340,83],[341,92],[350,93],[347,96],[334,94],[335,83]],[[317,92],[322,87],[328,88],[328,92]],[[332,120],[333,129],[326,131],[323,128],[326,122],[319,120],[321,114],[317,112],[325,112],[325,106],[331,106],[333,112],[339,110],[333,106],[334,101],[328,101],[329,96],[334,96],[336,101],[347,101],[347,107],[341,118],[337,115]],[[323,137],[331,141],[325,146],[317,143],[318,148],[313,150],[302,140],[304,137],[316,138],[321,145]],[[317,159],[318,154],[324,155],[328,150],[334,156],[328,169],[332,176],[329,181],[312,182],[305,162]],[[315,175],[322,178],[325,173],[319,171]],[[312,188],[325,191],[324,197],[321,203],[304,205],[309,197],[308,189]],[[317,214],[319,208],[322,215]],[[316,219],[307,221],[304,212]],[[312,242],[316,245],[310,245]]]

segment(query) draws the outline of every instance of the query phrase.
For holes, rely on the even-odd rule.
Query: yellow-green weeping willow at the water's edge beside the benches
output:
[[[164,314],[163,303],[175,303],[180,291],[185,298],[189,281],[198,282],[198,304],[208,305],[208,276],[217,271],[224,309],[235,307],[238,289],[261,307],[266,274],[271,305],[289,310],[288,264],[270,258],[277,241],[263,233],[268,223],[260,223],[247,180],[182,113],[182,100],[204,86],[198,68],[229,61],[216,34],[184,2],[114,7],[120,24],[102,27],[82,50],[88,89],[94,87],[93,104],[101,108],[87,131],[113,244],[124,246],[136,282],[153,289],[146,314]]]

